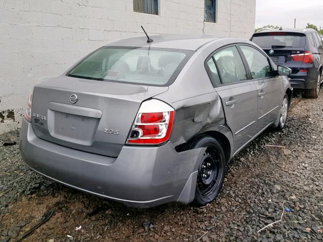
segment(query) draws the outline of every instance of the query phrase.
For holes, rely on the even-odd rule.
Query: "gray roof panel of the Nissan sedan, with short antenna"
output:
[[[147,43],[147,37],[134,37],[122,39],[105,46],[128,46],[128,47],[151,47],[151,48],[170,48],[197,50],[204,44],[221,39],[211,35],[153,35],[149,36],[153,42]]]

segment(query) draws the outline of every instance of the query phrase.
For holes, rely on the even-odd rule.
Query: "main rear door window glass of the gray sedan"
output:
[[[244,68],[241,56],[236,46],[220,50],[213,55],[222,84],[234,83],[247,80],[247,73]]]

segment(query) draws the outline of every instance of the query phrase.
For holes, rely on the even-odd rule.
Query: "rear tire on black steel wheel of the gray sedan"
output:
[[[204,206],[220,193],[226,172],[226,157],[222,145],[211,136],[198,136],[191,149],[206,147],[199,163],[193,203]]]

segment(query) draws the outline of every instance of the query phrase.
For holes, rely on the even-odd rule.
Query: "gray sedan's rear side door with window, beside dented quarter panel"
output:
[[[236,45],[217,50],[206,63],[218,87],[226,122],[234,135],[234,149],[239,149],[256,133],[257,90],[248,79]]]

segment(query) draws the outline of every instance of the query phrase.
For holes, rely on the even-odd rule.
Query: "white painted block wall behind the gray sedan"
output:
[[[150,34],[249,38],[255,0],[218,0],[217,23],[203,23],[204,0],[159,0],[159,15],[133,12],[133,0],[0,0],[0,134],[20,126],[31,88],[94,49]],[[15,122],[12,118],[13,110]],[[8,117],[7,117],[8,115]]]

